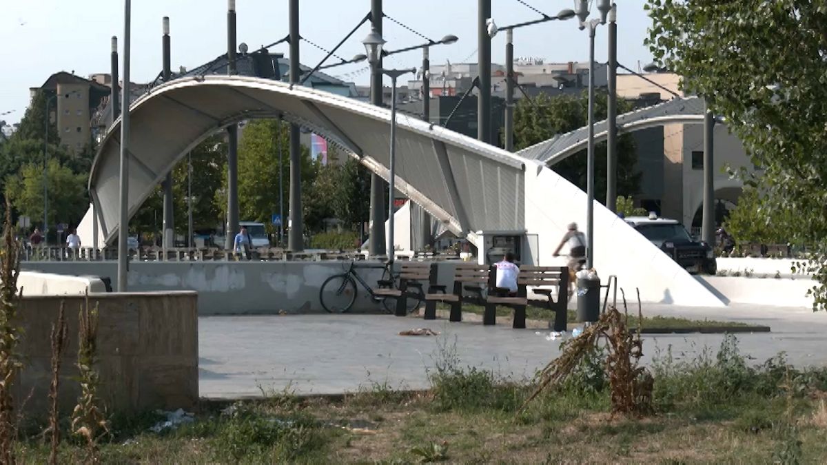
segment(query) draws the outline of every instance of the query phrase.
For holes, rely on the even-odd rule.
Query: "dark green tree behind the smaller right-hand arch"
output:
[[[606,117],[605,91],[595,92],[595,118]],[[631,105],[624,100],[618,102],[618,113],[631,111]],[[549,97],[541,93],[533,98],[520,99],[514,113],[514,146],[519,150],[546,141],[557,134],[574,131],[588,124],[588,97],[562,95]],[[631,136],[623,135],[618,140],[619,195],[633,195],[640,190],[640,173],[634,170],[638,158]],[[586,151],[581,151],[566,160],[552,165],[557,174],[586,190]],[[595,146],[595,198],[606,198],[606,143]]]

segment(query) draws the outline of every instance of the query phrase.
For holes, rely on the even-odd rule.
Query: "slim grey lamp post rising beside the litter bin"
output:
[[[576,16],[580,29],[589,29],[589,143],[586,161],[586,268],[595,266],[595,30],[605,24],[610,0],[598,0],[600,18],[589,20],[589,1],[580,0]]]

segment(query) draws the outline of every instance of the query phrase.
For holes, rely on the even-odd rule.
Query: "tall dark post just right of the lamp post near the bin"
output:
[[[617,8],[613,5],[612,8]],[[606,141],[606,208],[617,212],[617,176],[618,176],[618,25],[614,22],[614,15],[609,20],[609,64],[606,66],[609,73],[608,101],[606,103],[609,134]]]

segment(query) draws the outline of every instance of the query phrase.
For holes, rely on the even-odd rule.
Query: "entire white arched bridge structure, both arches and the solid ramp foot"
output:
[[[696,103],[677,100],[624,115],[621,131],[695,122]],[[308,127],[388,178],[390,110],[321,90],[241,76],[176,79],[132,103],[130,114],[130,216],[200,141],[251,118],[278,117]],[[514,154],[414,117],[399,115],[397,122],[397,189],[480,251],[486,236],[510,233],[524,237],[523,262],[560,263],[551,252],[567,223],[586,223],[586,193],[547,164],[581,150],[580,132]],[[88,184],[93,206],[79,226],[81,234],[92,237],[97,215],[107,243],[115,240],[118,228],[119,129],[120,121],[109,128],[93,161]],[[724,304],[599,202],[595,268],[601,276],[618,276],[627,290],[638,287],[643,300]]]

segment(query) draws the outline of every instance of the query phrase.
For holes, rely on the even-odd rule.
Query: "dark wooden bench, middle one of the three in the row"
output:
[[[462,302],[479,302],[479,298],[468,293],[482,295],[482,290],[490,279],[490,266],[476,263],[457,263],[454,268],[452,293],[446,292],[446,286],[436,284],[436,269],[429,280],[428,292],[425,294],[424,319],[437,319],[437,302],[451,305],[449,321],[462,321]]]

